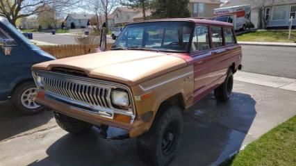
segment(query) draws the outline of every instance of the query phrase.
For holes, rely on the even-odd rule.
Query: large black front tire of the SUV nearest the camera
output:
[[[183,134],[183,117],[177,106],[165,106],[156,116],[147,133],[137,138],[137,151],[141,160],[153,165],[168,165],[179,148]]]

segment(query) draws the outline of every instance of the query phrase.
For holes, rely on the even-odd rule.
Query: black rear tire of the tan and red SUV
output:
[[[215,98],[220,101],[228,101],[232,94],[233,72],[229,69],[224,83],[214,90]]]

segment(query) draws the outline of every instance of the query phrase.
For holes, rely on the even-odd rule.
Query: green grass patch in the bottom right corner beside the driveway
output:
[[[296,116],[247,145],[220,166],[296,165]]]

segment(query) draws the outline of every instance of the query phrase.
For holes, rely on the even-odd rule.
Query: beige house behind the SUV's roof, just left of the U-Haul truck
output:
[[[220,7],[219,0],[189,0],[189,10],[191,17],[195,18],[211,18],[214,9]]]

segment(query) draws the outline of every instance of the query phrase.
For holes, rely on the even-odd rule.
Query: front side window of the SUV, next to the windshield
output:
[[[208,40],[208,26],[195,26],[193,33],[191,51],[202,51],[210,49]]]

